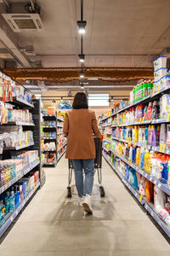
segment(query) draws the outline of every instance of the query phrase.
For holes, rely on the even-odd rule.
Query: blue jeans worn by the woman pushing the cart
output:
[[[75,180],[78,191],[78,196],[91,195],[94,185],[94,159],[74,159],[72,160],[75,169]],[[85,181],[83,183],[82,169],[85,173]]]

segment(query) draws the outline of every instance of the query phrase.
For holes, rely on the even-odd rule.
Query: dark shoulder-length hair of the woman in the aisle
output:
[[[81,109],[86,108],[88,109],[88,99],[84,92],[77,92],[76,96],[74,97],[74,102],[72,103],[73,109]]]

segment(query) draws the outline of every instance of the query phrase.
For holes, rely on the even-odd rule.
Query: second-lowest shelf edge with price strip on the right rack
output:
[[[111,151],[113,154],[115,154],[117,157],[119,157],[121,160],[123,160],[128,166],[133,167],[134,170],[136,170],[137,172],[139,172],[142,176],[144,176],[146,179],[150,180],[151,183],[154,183],[159,189],[163,190],[165,193],[167,193],[167,195],[170,195],[170,186],[168,186],[165,183],[161,183],[161,181],[159,181],[158,179],[156,179],[156,177],[151,176],[149,173],[144,172],[144,170],[142,170],[139,166],[136,166],[135,164],[133,164],[130,160],[127,160],[127,158],[125,158],[122,155],[117,154],[114,150],[112,149],[107,149],[104,148],[105,151],[109,152]]]

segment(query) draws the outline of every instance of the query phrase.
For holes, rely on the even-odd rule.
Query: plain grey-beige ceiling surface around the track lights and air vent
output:
[[[0,13],[4,13],[3,2],[0,1]],[[29,3],[29,0],[6,2]],[[41,7],[43,31],[12,33],[19,49],[27,45],[34,49],[35,55],[26,56],[26,63],[29,61],[30,67],[36,63],[42,67],[81,67],[77,56],[81,53],[77,32],[80,0],[37,0],[36,3]],[[152,67],[156,56],[170,46],[169,9],[169,0],[84,0],[85,66]],[[3,27],[8,27],[3,21]],[[3,41],[1,33],[0,40]],[[0,49],[5,49],[4,41],[0,42]],[[5,52],[0,54],[0,59],[11,58]]]

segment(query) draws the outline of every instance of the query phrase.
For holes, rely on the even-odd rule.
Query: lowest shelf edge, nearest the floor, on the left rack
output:
[[[3,233],[8,229],[9,225],[13,223],[14,218],[20,213],[23,207],[26,206],[26,202],[30,200],[31,196],[36,192],[38,187],[40,186],[40,182],[35,185],[35,189],[32,189],[26,198],[20,203],[20,206],[17,207],[12,214],[9,215],[3,226],[0,228],[0,236],[3,236]]]

